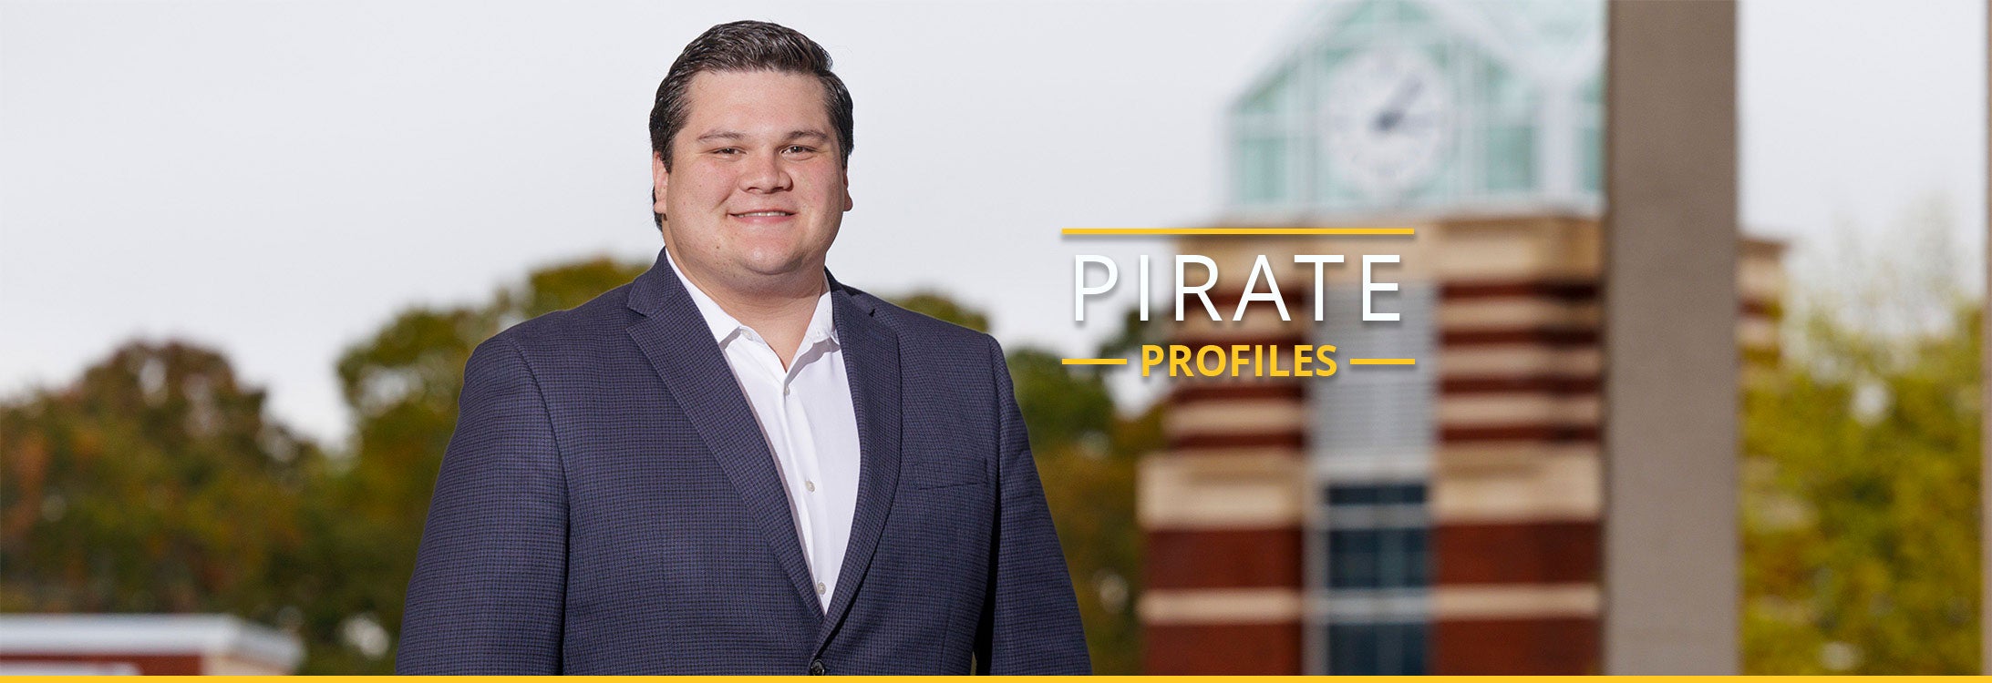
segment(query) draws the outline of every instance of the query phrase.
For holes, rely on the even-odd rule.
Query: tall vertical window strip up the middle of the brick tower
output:
[[[1359,297],[1331,297],[1315,342],[1341,356],[1408,356],[1402,372],[1337,372],[1309,386],[1317,496],[1309,514],[1311,673],[1424,673],[1430,631],[1430,452],[1438,398],[1438,287],[1408,281],[1363,323]]]

